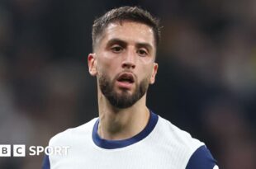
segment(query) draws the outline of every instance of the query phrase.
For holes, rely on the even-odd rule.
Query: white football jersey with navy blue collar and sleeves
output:
[[[139,134],[106,140],[97,134],[99,119],[67,129],[50,139],[50,147],[66,154],[45,155],[43,169],[217,169],[205,144],[150,112]]]

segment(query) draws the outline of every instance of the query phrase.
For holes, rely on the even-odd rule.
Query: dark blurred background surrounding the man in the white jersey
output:
[[[97,116],[92,21],[123,5],[163,26],[151,110],[205,142],[220,168],[255,169],[255,0],[1,0],[0,144],[47,146]],[[0,157],[0,168],[40,168],[42,158]]]

